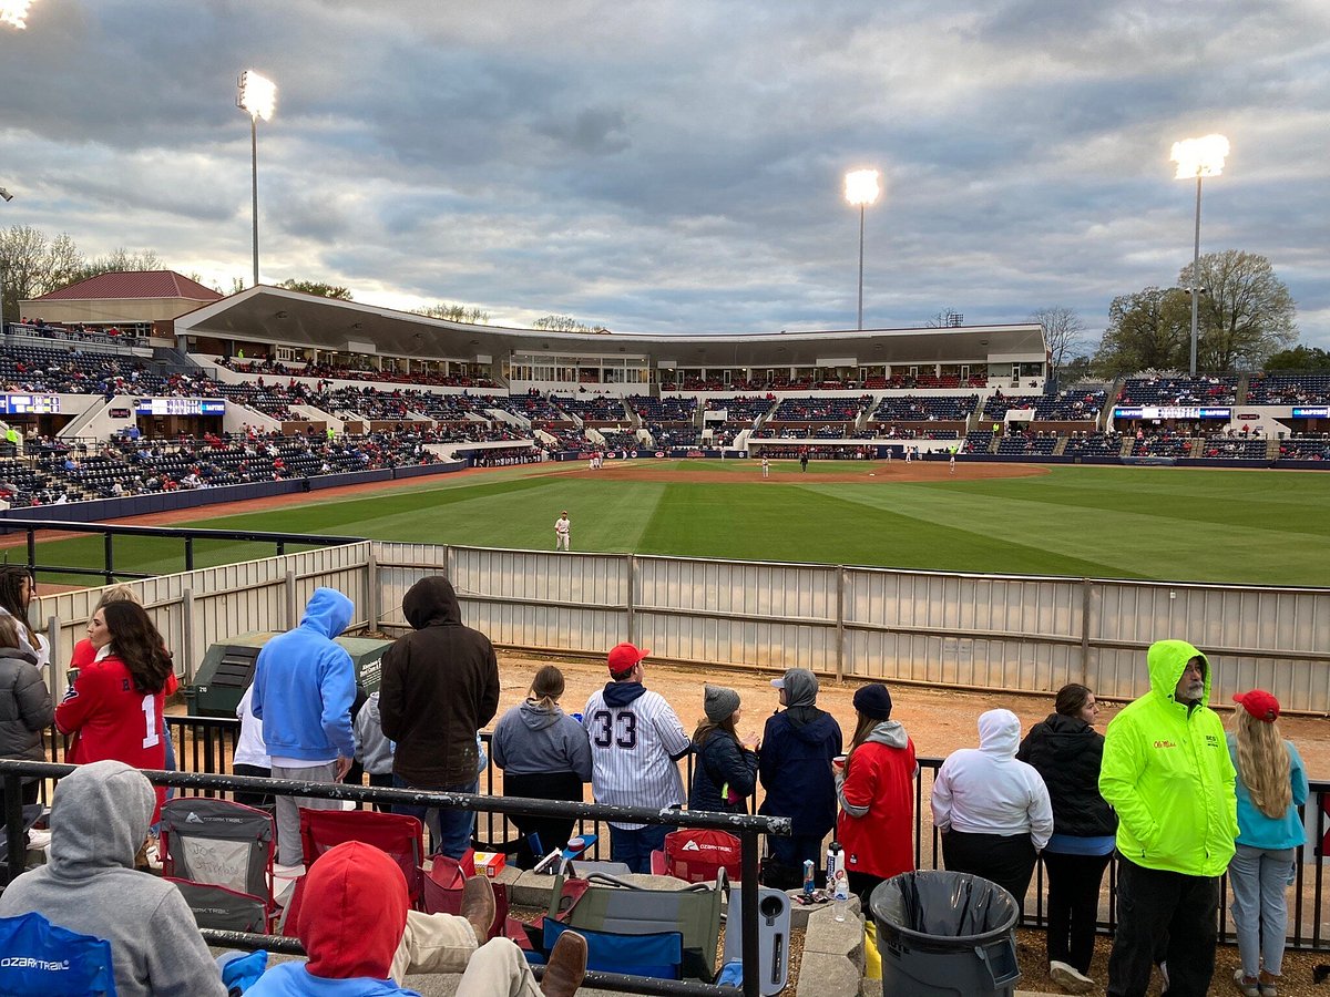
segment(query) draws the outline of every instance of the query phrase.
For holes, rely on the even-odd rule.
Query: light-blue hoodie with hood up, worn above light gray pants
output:
[[[335,589],[315,589],[301,625],[278,634],[258,653],[254,715],[273,758],[331,762],[355,756],[351,703],[355,665],[334,637],[346,630],[355,606]]]

